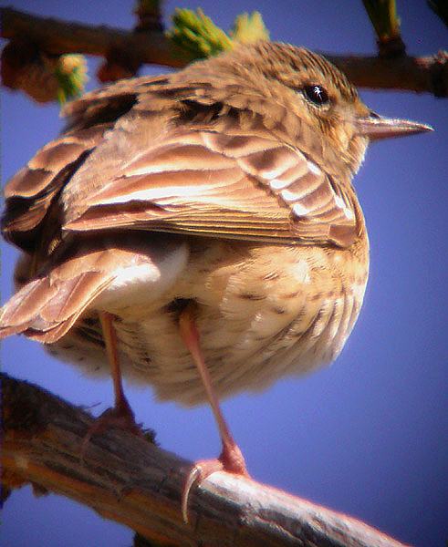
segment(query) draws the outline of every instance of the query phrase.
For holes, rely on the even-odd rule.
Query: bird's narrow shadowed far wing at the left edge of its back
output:
[[[89,154],[113,129],[116,121],[137,102],[142,90],[161,84],[165,77],[123,80],[74,100],[64,108],[68,118],[64,133],[52,140],[27,162],[5,185],[5,238],[26,252],[36,251],[48,212],[57,204],[59,191],[79,169]],[[47,217],[47,219],[46,219]],[[52,212],[50,222],[58,222]]]

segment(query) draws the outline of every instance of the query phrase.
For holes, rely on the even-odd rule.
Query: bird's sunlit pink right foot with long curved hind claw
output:
[[[182,490],[182,517],[188,523],[188,501],[193,486],[200,486],[203,480],[216,471],[225,471],[248,479],[249,473],[245,467],[245,458],[238,445],[226,446],[218,459],[202,459],[197,461],[188,474]]]

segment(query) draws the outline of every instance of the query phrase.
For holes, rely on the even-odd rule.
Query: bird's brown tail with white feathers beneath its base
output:
[[[182,243],[168,243],[164,237],[142,239],[138,232],[68,242],[65,248],[62,245],[64,243],[34,279],[26,281],[26,268],[32,268],[32,261],[19,263],[19,277],[25,284],[0,310],[0,339],[21,333],[53,344],[83,312],[93,308],[91,304],[104,291],[111,289],[109,296],[97,305],[105,305],[105,302],[110,305],[114,303],[113,298],[118,298],[119,304],[126,304],[130,286],[157,284],[163,278],[163,268],[171,275],[173,268],[177,268],[179,274],[185,258]],[[111,287],[117,279],[118,285]],[[172,277],[172,283],[173,280]]]

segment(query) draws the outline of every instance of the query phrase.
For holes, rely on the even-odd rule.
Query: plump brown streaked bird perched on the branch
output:
[[[68,127],[5,189],[23,250],[0,335],[22,333],[161,399],[218,400],[339,355],[359,315],[369,243],[351,179],[370,140],[428,126],[384,119],[326,59],[261,42],[72,102]],[[94,432],[94,431],[93,431]],[[185,509],[185,508],[183,508]]]

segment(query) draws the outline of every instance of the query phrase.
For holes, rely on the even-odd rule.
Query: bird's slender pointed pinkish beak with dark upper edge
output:
[[[365,135],[370,140],[406,137],[406,135],[433,131],[431,126],[424,123],[417,123],[410,119],[382,118],[374,112],[370,112],[367,118],[358,118],[356,125],[359,135]]]

